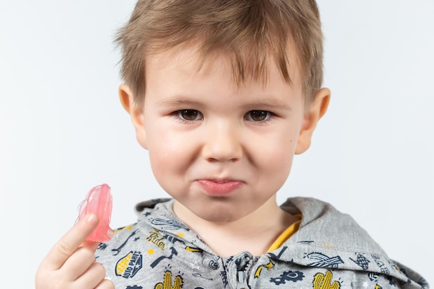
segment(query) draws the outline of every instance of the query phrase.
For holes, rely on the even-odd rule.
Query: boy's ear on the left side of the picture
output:
[[[121,103],[123,108],[130,114],[132,124],[136,129],[136,138],[139,142],[140,146],[145,149],[148,149],[146,145],[146,132],[144,125],[144,108],[143,106],[137,105],[134,102],[134,95],[132,94],[132,90],[128,85],[123,83],[119,87],[119,98],[121,99]]]

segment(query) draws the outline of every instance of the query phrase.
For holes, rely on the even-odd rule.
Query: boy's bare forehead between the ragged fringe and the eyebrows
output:
[[[297,73],[293,85],[281,76],[271,56],[267,58],[266,81],[247,76],[238,84],[232,76],[232,62],[224,53],[216,53],[205,60],[195,47],[165,51],[150,55],[146,66],[146,98],[150,103],[202,103],[211,101],[215,110],[227,105],[256,103],[255,107],[274,107],[276,103],[295,106],[302,103],[303,89]],[[292,70],[292,69],[291,69]],[[152,100],[151,100],[152,99]],[[207,100],[205,100],[207,99]],[[268,106],[266,105],[268,103]]]

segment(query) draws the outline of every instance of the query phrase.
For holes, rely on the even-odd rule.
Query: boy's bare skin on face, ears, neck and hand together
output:
[[[220,256],[263,254],[296,220],[279,208],[276,193],[293,156],[309,148],[330,91],[320,89],[305,107],[295,65],[292,86],[270,59],[266,85],[247,79],[237,87],[224,55],[199,71],[196,60],[191,48],[150,57],[144,105],[134,104],[127,85],[119,89],[121,103],[177,217]],[[97,225],[96,216],[86,216],[54,245],[37,270],[36,289],[114,288],[94,261],[97,244],[85,242]]]

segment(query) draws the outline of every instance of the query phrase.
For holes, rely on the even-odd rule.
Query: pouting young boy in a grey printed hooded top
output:
[[[315,1],[140,0],[117,43],[121,102],[173,199],[98,248],[80,220],[37,289],[428,288],[331,205],[276,202],[330,98]]]

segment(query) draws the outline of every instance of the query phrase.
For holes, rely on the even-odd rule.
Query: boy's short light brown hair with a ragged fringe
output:
[[[315,0],[139,0],[130,21],[117,33],[121,77],[142,104],[146,56],[200,40],[204,62],[225,52],[234,80],[250,73],[267,78],[272,55],[281,76],[291,84],[288,51],[293,45],[302,88],[309,103],[322,85],[322,31]]]

